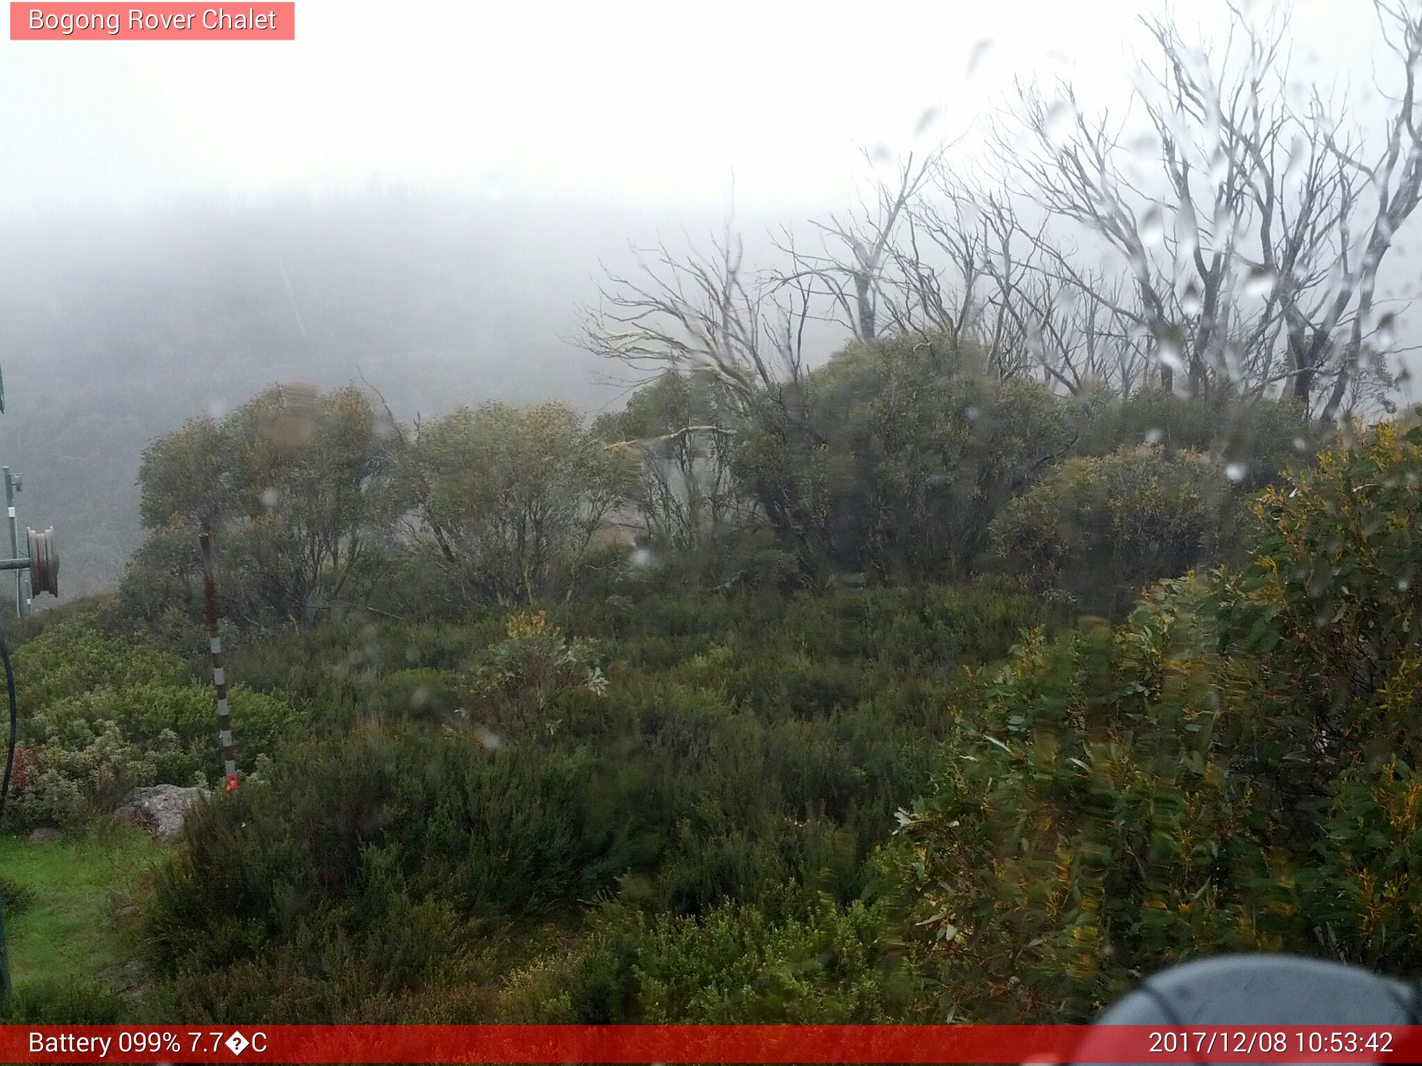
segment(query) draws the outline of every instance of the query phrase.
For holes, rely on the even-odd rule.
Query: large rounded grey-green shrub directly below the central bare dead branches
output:
[[[946,337],[880,338],[811,375],[825,540],[836,567],[961,580],[1000,509],[1066,453],[1071,409]]]

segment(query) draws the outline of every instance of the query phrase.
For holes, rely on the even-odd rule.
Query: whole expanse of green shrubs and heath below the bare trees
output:
[[[939,343],[809,382],[812,449],[700,375],[158,438],[122,591],[20,627],[10,826],[216,779],[201,526],[243,783],[134,890],[139,992],[11,1013],[1061,1021],[1227,949],[1412,969],[1422,431]]]

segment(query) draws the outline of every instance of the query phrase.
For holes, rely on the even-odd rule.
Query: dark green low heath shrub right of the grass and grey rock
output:
[[[600,790],[584,758],[489,750],[418,726],[296,745],[269,780],[189,819],[155,877],[151,958],[219,984],[218,971],[235,979],[284,958],[287,986],[321,979],[343,944],[351,995],[414,985],[445,945],[574,907],[638,861]],[[419,925],[401,908],[448,928],[414,944]],[[390,981],[356,979],[400,959]]]

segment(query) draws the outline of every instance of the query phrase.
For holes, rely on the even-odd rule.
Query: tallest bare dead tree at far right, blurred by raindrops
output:
[[[1422,16],[1384,0],[1374,7],[1405,85],[1371,156],[1365,134],[1345,131],[1320,92],[1303,112],[1288,102],[1277,16],[1256,24],[1231,9],[1213,54],[1170,21],[1146,20],[1158,60],[1136,92],[1139,138],[1109,112],[1082,114],[1071,85],[1052,99],[1021,92],[1028,146],[1004,136],[1003,162],[1051,217],[1115,254],[1132,300],[1092,290],[1064,257],[1055,273],[1149,337],[1166,388],[1176,372],[1192,394],[1281,388],[1331,419],[1358,394],[1352,377],[1376,371],[1365,345],[1378,269],[1422,190]],[[1136,166],[1145,155],[1153,173]]]

